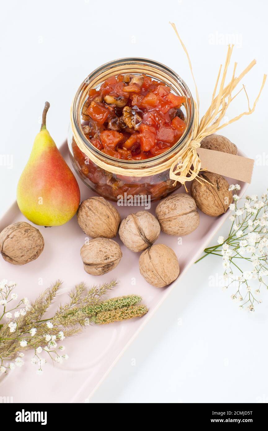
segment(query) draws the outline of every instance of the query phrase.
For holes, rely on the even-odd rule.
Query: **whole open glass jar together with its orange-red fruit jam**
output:
[[[75,94],[72,164],[100,196],[143,206],[180,187],[170,179],[168,160],[193,133],[193,120],[190,90],[168,66],[141,58],[111,61],[91,72]]]

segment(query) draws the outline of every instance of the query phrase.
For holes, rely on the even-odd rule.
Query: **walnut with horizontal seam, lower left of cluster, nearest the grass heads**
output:
[[[122,251],[113,240],[94,238],[83,245],[80,256],[87,274],[103,275],[116,268],[122,258]]]

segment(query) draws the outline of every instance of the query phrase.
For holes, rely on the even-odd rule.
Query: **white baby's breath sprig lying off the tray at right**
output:
[[[230,191],[239,191],[239,184],[232,184]],[[218,245],[208,247],[199,262],[209,255],[221,256],[225,288],[233,288],[233,300],[240,302],[240,309],[250,312],[263,287],[268,288],[268,194],[240,198],[236,193],[229,208],[231,228],[225,239],[218,237]],[[250,266],[249,266],[250,265]],[[255,281],[256,288],[253,288]]]

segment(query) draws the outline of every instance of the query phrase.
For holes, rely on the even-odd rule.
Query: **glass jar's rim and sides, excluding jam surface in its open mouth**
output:
[[[87,99],[88,90],[91,88],[99,89],[100,85],[107,78],[118,74],[141,74],[150,76],[156,81],[162,81],[171,88],[173,93],[186,97],[183,105],[186,129],[181,138],[165,153],[146,160],[129,161],[115,159],[108,156],[94,147],[84,135],[82,125],[87,123],[82,120],[82,107]],[[162,199],[180,186],[177,182],[169,178],[169,169],[150,176],[135,176],[135,169],[147,169],[159,166],[168,159],[174,157],[181,149],[182,145],[193,134],[194,104],[193,98],[185,82],[171,69],[161,63],[149,59],[123,58],[100,66],[94,70],[82,82],[72,103],[71,124],[68,133],[68,146],[72,164],[82,181],[93,191],[109,200],[117,201],[128,197],[150,197],[150,201]],[[74,138],[75,135],[75,138]],[[131,170],[131,176],[117,175],[106,169],[99,167],[90,160],[93,153],[100,162],[105,162],[111,167],[116,166],[124,169],[124,172]]]

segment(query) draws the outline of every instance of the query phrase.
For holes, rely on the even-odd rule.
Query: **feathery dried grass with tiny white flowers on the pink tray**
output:
[[[41,353],[59,364],[68,359],[68,355],[62,354],[62,340],[79,334],[89,324],[89,319],[86,313],[78,313],[73,316],[69,327],[68,319],[65,325],[66,314],[74,307],[79,309],[97,305],[100,298],[115,287],[117,282],[114,280],[99,287],[93,286],[89,290],[84,283],[78,284],[69,293],[69,301],[60,305],[53,317],[44,319],[61,284],[61,281],[56,281],[33,303],[23,298],[15,306],[12,301],[18,299],[18,295],[13,292],[16,283],[5,279],[0,281],[0,306],[3,306],[0,312],[0,373],[6,373],[16,366],[21,367],[24,364],[22,358],[25,350],[34,351],[31,363],[37,365],[37,374],[42,374],[42,366],[47,362]]]

